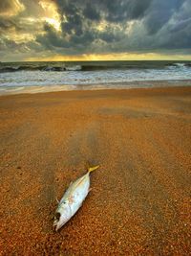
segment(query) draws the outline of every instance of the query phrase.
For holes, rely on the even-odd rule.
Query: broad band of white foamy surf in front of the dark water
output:
[[[169,81],[191,80],[191,68],[182,65],[169,66],[161,69],[112,69],[99,71],[78,71],[81,66],[72,66],[75,70],[64,72],[17,71],[0,73],[0,94],[6,91],[50,91],[75,89],[76,85],[97,84],[107,86],[112,82],[129,81]],[[76,71],[77,70],[77,71]],[[63,85],[66,84],[66,85]],[[61,87],[59,87],[61,86]],[[30,87],[30,88],[29,88]],[[81,86],[82,87],[82,86]]]

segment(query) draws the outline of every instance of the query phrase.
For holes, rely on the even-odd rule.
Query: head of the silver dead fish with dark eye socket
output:
[[[53,226],[55,231],[58,231],[67,221],[72,217],[70,204],[67,202],[62,203],[56,210]]]

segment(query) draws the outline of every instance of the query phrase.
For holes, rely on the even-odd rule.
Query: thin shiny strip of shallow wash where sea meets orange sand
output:
[[[7,86],[6,91],[0,90],[0,97],[17,94],[36,94],[61,91],[94,91],[94,90],[121,90],[134,88],[170,88],[191,86],[191,80],[163,80],[163,81],[127,81],[97,84],[68,84],[68,85],[34,85],[34,86]]]

